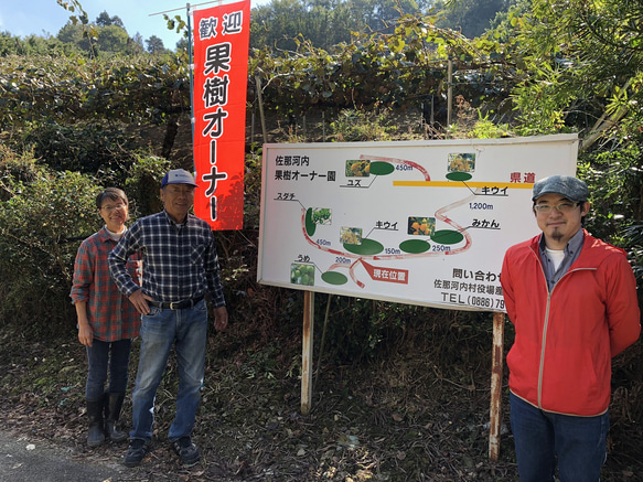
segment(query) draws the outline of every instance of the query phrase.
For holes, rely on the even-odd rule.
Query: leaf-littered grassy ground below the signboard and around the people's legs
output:
[[[270,306],[286,294],[298,296],[260,287],[255,296]],[[266,308],[262,315],[272,318],[237,311],[226,332],[211,335],[194,432],[203,462],[181,469],[165,442],[176,383],[171,362],[158,394],[152,451],[141,467],[112,482],[517,480],[506,388],[501,459],[487,458],[491,322],[485,314],[410,310],[415,321],[400,319],[386,341],[353,357],[329,343],[312,411],[303,416],[299,321],[288,318],[283,303],[271,306],[275,311]],[[331,317],[336,330],[346,321]],[[17,332],[2,335],[4,429],[51,440],[77,458],[119,461],[122,446],[84,446],[86,362],[73,336],[69,331],[63,340],[25,342]],[[132,373],[137,354],[138,346]],[[637,344],[617,361],[604,481],[635,481],[643,470],[641,355]],[[128,399],[126,424],[130,409]]]

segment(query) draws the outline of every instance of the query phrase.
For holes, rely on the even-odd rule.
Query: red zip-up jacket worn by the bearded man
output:
[[[580,255],[551,292],[540,236],[506,251],[501,283],[515,326],[512,393],[543,410],[596,416],[610,404],[611,358],[639,339],[641,313],[625,251],[583,233]]]

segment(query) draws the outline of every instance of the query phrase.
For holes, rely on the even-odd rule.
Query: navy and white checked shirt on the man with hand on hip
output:
[[[224,307],[218,256],[210,225],[193,214],[183,224],[165,211],[137,221],[109,254],[111,277],[129,297],[139,287],[127,272],[126,260],[140,251],[143,293],[154,301],[173,302],[210,292],[215,307]]]

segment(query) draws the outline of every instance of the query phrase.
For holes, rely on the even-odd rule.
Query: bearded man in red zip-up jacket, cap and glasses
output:
[[[611,358],[639,339],[636,281],[625,251],[581,226],[585,182],[534,184],[542,234],[512,246],[501,283],[515,342],[511,421],[523,482],[598,482],[607,457]]]

